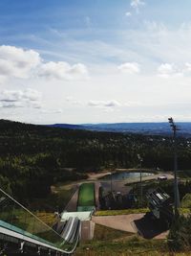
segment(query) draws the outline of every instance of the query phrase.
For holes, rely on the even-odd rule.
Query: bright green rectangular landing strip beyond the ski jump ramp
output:
[[[95,184],[83,183],[79,188],[78,206],[94,206],[95,205]]]

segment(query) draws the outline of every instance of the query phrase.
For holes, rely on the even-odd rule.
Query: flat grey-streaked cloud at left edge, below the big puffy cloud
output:
[[[3,90],[0,94],[1,107],[41,107],[41,93],[33,90]]]

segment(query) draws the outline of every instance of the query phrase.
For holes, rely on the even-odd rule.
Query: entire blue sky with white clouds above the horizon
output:
[[[1,0],[0,119],[191,122],[190,0]]]

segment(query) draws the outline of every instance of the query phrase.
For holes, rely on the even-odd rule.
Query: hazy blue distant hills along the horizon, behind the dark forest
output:
[[[178,135],[190,137],[191,123],[176,123],[180,128]],[[114,123],[114,124],[55,124],[51,127],[86,129],[95,131],[110,131],[122,133],[140,133],[144,135],[170,135],[172,133],[169,124],[166,123]]]

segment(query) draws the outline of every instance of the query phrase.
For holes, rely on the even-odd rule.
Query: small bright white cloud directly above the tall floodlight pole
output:
[[[171,63],[162,63],[158,68],[158,75],[162,78],[181,77],[183,73]]]

